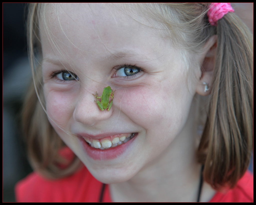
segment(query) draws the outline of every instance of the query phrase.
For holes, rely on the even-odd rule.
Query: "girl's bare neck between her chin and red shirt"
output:
[[[196,202],[200,165],[173,170],[172,173],[165,169],[168,167],[159,166],[158,169],[148,169],[138,173],[129,181],[110,185],[112,200],[123,202]]]

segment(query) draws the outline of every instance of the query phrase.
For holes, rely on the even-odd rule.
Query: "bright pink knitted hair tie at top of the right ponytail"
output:
[[[212,26],[217,26],[217,21],[228,12],[234,12],[230,3],[211,3],[207,16]]]

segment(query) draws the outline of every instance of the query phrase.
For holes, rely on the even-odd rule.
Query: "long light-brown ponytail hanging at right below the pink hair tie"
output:
[[[233,188],[253,150],[252,34],[234,14],[218,21],[217,55],[209,113],[198,148],[204,179],[213,188]]]

